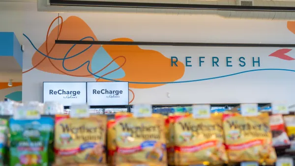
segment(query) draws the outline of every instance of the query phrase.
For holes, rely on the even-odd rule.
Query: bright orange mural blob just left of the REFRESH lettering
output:
[[[128,38],[118,38],[112,41],[128,41],[133,40]],[[161,86],[166,83],[159,82],[174,82],[180,79],[184,74],[184,65],[177,62],[178,67],[171,67],[171,59],[154,50],[144,50],[139,46],[126,45],[103,45],[106,52],[113,58],[124,56],[126,64],[122,66],[125,72],[125,77],[117,79],[119,81],[129,82],[144,82],[130,83],[133,88],[151,88]],[[118,64],[123,63],[122,58],[118,58]],[[106,81],[99,79],[98,81]],[[145,84],[147,83],[147,84]],[[159,83],[159,84],[148,84]]]

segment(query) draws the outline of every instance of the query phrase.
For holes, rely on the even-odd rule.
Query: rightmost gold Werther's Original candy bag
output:
[[[276,161],[268,113],[258,116],[224,113],[223,130],[231,162],[252,161],[272,165]]]

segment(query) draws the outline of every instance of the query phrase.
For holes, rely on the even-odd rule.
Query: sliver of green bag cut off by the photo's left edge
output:
[[[7,152],[7,135],[8,135],[8,121],[0,119],[0,166],[4,166],[8,160]]]

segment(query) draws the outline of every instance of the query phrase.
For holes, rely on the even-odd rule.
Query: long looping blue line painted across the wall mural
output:
[[[70,49],[69,51],[64,55],[64,58],[54,58],[54,57],[51,57],[51,56],[48,56],[48,55],[45,55],[43,54],[42,52],[40,52],[35,46],[34,44],[32,43],[32,41],[29,39],[29,37],[23,33],[23,35],[29,40],[30,44],[32,45],[32,47],[38,52],[40,53],[41,55],[43,56],[46,56],[48,58],[51,58],[51,59],[54,59],[54,60],[62,60],[62,67],[64,70],[66,71],[75,71],[75,70],[78,70],[79,68],[81,68],[82,66],[84,66],[85,64],[87,64],[87,70],[88,72],[95,76],[95,77],[98,77],[100,79],[104,79],[104,80],[108,80],[108,81],[113,81],[113,82],[125,82],[125,81],[118,81],[118,80],[113,80],[113,79],[107,79],[107,78],[104,78],[104,77],[100,77],[100,76],[97,76],[95,74],[93,74],[90,70],[89,70],[89,65],[90,65],[90,61],[86,61],[84,62],[82,65],[80,65],[79,67],[77,68],[74,68],[74,69],[67,69],[65,66],[64,66],[64,61],[66,59],[70,59],[70,58],[73,58],[77,55],[80,55],[82,53],[84,53],[85,51],[87,51],[92,45],[90,45],[88,48],[86,48],[85,50],[81,51],[80,53],[78,54],[75,54],[75,55],[72,55],[72,56],[69,56],[69,57],[66,57],[69,52],[76,46],[76,44],[74,44]],[[91,37],[91,36],[88,36],[88,37],[84,37],[82,38],[81,40],[84,40],[84,39],[92,39],[94,41],[94,38]],[[137,84],[168,84],[168,83],[190,83],[190,82],[199,82],[199,81],[206,81],[206,80],[213,80],[213,79],[220,79],[220,78],[224,78],[224,77],[230,77],[230,76],[235,76],[235,75],[238,75],[238,74],[242,74],[242,73],[249,73],[249,72],[254,72],[254,71],[264,71],[264,70],[277,70],[277,71],[290,71],[290,72],[295,72],[295,70],[290,70],[290,69],[255,69],[255,70],[247,70],[247,71],[242,71],[242,72],[238,72],[238,73],[233,73],[233,74],[229,74],[229,75],[223,75],[223,76],[218,76],[218,77],[210,77],[210,78],[206,78],[206,79],[198,79],[198,80],[188,80],[188,81],[176,81],[176,82],[153,82],[153,83],[148,83],[148,82],[129,82],[129,83],[137,83]]]

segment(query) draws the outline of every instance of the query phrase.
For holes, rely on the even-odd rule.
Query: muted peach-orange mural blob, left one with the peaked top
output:
[[[61,27],[62,25],[62,27]],[[46,52],[46,41],[40,46],[38,49],[43,54],[47,54],[48,56],[51,56],[53,58],[59,58],[62,59],[67,54],[67,52],[71,49],[73,46],[72,44],[57,44],[55,45],[55,40],[58,36],[58,30],[60,30],[59,34],[59,40],[81,40],[82,38],[86,36],[91,36],[94,38],[94,40],[97,40],[94,33],[92,32],[91,28],[79,17],[70,16],[68,19],[66,19],[60,26],[55,27],[51,33],[48,36],[47,39],[47,50],[52,51],[47,54]],[[85,40],[91,40],[91,39],[85,39]],[[87,49],[89,45],[76,45],[71,49],[67,57],[76,55],[83,50]],[[100,45],[93,45],[91,46],[87,51],[81,53],[80,55],[77,55],[75,57],[69,58],[65,60],[65,68],[66,69],[75,69],[79,67],[81,64],[83,64],[86,61],[91,61],[92,56],[94,53],[99,49]],[[44,58],[44,55],[41,55],[40,53],[36,52],[32,57],[32,65],[35,66],[38,64],[42,59]],[[75,71],[66,71],[62,66],[62,60],[55,60],[55,59],[49,59],[46,58],[42,64],[38,65],[36,67],[38,70],[49,72],[49,73],[55,73],[55,74],[66,74],[70,76],[76,76],[76,77],[93,77],[91,74],[89,74],[87,70],[87,65],[84,65],[83,67],[75,70]],[[89,68],[91,68],[91,64],[89,64]]]

